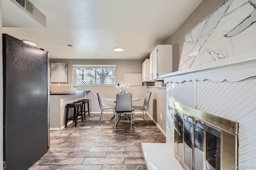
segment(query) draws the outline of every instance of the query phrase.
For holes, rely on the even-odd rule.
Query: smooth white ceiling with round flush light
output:
[[[36,47],[50,52],[50,59],[146,59],[154,47],[164,44],[202,2],[30,1],[46,16],[46,27],[3,27],[2,33],[36,42]],[[27,19],[19,17],[18,20],[25,22]],[[73,47],[65,46],[67,44]],[[113,51],[114,47],[123,47],[124,51]]]

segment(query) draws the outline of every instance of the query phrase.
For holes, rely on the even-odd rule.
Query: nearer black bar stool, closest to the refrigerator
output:
[[[65,121],[65,127],[67,127],[67,124],[68,124],[68,120],[72,120],[72,121],[75,121],[75,127],[76,127],[76,124],[77,124],[77,120],[78,120],[78,116],[79,115],[82,115],[82,110],[83,110],[83,103],[82,102],[73,102],[72,104],[67,104],[66,105],[66,121]],[[81,108],[81,114],[78,113],[78,110],[79,110],[79,107]],[[73,117],[71,118],[68,118],[68,110],[69,108],[73,108],[74,111],[73,111]],[[83,120],[83,116],[79,117],[79,119],[82,119]]]

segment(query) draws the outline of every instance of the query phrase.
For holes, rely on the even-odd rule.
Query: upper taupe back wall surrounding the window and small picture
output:
[[[51,54],[50,54],[51,55]],[[60,86],[72,86],[73,64],[116,64],[117,83],[124,81],[124,73],[142,73],[143,60],[64,60],[50,59],[50,62],[68,62],[68,83],[61,83]],[[57,86],[58,83],[50,83],[50,86]]]

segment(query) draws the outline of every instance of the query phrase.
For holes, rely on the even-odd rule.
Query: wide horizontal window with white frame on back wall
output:
[[[74,85],[116,84],[116,65],[73,65]]]

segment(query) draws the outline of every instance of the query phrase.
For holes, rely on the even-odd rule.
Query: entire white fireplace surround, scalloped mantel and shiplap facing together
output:
[[[256,168],[255,76],[253,52],[163,75],[166,148],[174,150],[174,102],[178,102],[238,122],[238,167]]]

